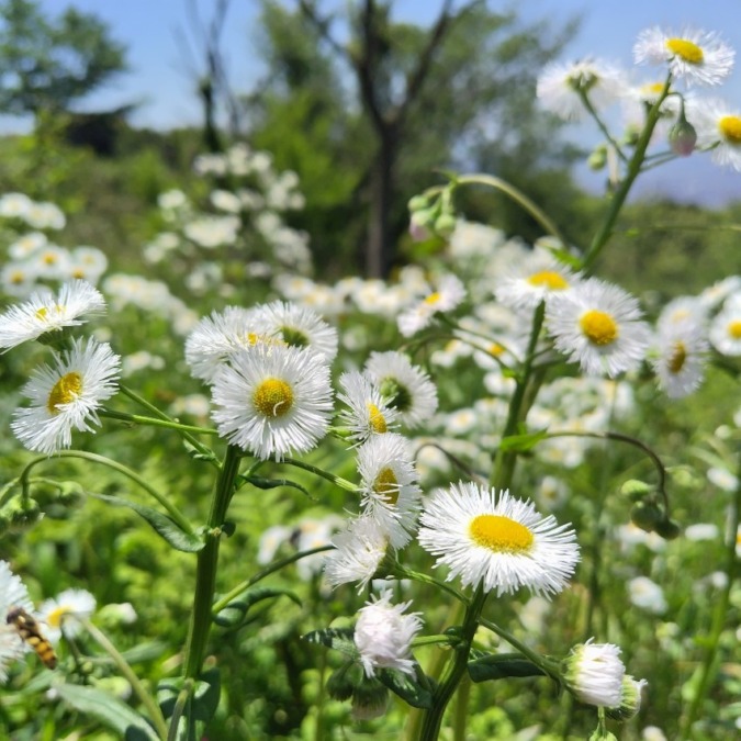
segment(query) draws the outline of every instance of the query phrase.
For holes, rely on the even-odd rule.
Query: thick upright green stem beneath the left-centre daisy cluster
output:
[[[205,546],[198,553],[193,611],[186,643],[186,678],[197,680],[201,672],[209,632],[211,631],[211,611],[216,586],[221,528],[226,519],[226,510],[234,494],[234,482],[239,472],[240,460],[240,450],[234,446],[228,446],[214,486],[205,532]]]

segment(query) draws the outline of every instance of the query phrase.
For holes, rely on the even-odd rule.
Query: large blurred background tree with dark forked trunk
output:
[[[514,13],[475,0],[457,9],[444,0],[428,27],[395,21],[391,2],[349,8],[340,15],[323,12],[318,1],[263,2],[269,72],[252,110],[257,103],[261,146],[277,151],[287,138],[273,136],[279,111],[302,124],[294,137],[311,136],[317,121],[335,114],[328,142],[335,172],[346,179],[352,172],[355,194],[366,200],[366,272],[385,276],[406,200],[430,184],[433,169],[471,167],[495,148],[502,160],[527,153],[531,170],[558,149],[552,127],[531,123],[535,79],[573,24],[550,24],[546,33],[544,24],[524,26]],[[296,121],[293,100],[311,112],[312,125]]]

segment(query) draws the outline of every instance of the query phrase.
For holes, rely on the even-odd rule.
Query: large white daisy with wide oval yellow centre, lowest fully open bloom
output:
[[[541,517],[531,502],[460,482],[425,504],[419,543],[447,565],[448,581],[483,584],[497,596],[526,586],[548,596],[564,588],[579,561],[569,525]]]

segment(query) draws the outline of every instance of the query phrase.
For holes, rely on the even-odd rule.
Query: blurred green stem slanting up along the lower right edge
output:
[[[705,698],[707,697],[708,691],[710,689],[710,683],[718,671],[716,658],[720,647],[720,637],[723,632],[726,619],[728,617],[728,608],[731,602],[731,590],[733,588],[733,582],[737,576],[739,562],[739,559],[736,554],[736,549],[738,537],[737,532],[739,531],[739,525],[741,524],[741,456],[739,456],[737,479],[739,483],[736,486],[736,495],[733,503],[731,504],[731,521],[729,523],[730,532],[726,548],[726,574],[728,579],[726,580],[726,585],[723,586],[718,602],[716,603],[716,611],[712,616],[710,636],[707,641],[707,653],[705,654],[701,673],[696,685],[695,696],[693,697],[689,709],[687,710],[687,714],[685,715],[681,726],[678,736],[680,741],[696,738],[693,734],[693,726],[700,714]]]

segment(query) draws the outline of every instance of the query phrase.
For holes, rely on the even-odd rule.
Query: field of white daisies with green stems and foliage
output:
[[[741,171],[741,104],[705,97],[733,50],[652,29],[635,55],[658,85],[538,80],[605,136],[588,233],[430,173],[384,278],[317,261],[300,178],[246,141],[114,239],[58,188],[92,158],[13,154],[0,738],[738,738],[741,211],[672,280],[621,221],[650,167]]]

